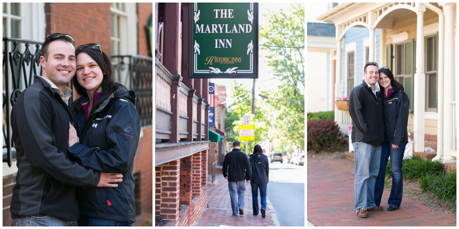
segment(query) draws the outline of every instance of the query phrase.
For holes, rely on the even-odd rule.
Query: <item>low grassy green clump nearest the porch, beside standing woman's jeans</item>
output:
[[[441,175],[443,164],[439,161],[423,160],[420,157],[403,160],[403,178],[414,180],[427,175]]]

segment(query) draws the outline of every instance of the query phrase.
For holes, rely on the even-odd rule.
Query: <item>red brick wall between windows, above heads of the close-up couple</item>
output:
[[[110,56],[110,3],[45,3],[45,15],[46,37],[53,33],[70,34],[75,46],[97,43]]]

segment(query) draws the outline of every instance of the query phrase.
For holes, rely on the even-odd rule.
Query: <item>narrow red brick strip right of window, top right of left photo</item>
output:
[[[153,15],[153,3],[137,3],[137,50],[139,55],[151,56],[148,51],[147,31],[145,26],[148,26],[148,20]],[[153,35],[155,36],[155,35]]]

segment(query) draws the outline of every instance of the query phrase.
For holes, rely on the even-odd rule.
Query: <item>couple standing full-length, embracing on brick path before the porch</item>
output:
[[[408,142],[410,100],[388,67],[368,62],[364,80],[349,95],[354,148],[355,211],[361,218],[367,211],[382,211],[386,165],[391,157],[392,189],[388,211],[400,207],[403,194],[402,160]],[[379,87],[376,82],[379,81]]]

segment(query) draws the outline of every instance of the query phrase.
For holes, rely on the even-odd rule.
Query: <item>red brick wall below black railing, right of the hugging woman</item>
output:
[[[133,173],[139,173],[140,181],[140,212],[151,212],[153,208],[153,128],[142,128],[143,137],[139,140]]]

